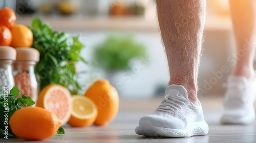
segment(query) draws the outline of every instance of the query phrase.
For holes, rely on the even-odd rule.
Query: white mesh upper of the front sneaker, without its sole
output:
[[[188,125],[204,121],[200,102],[195,106],[188,100],[187,91],[181,85],[170,85],[165,92],[165,98],[151,115],[141,118],[150,121],[152,125],[162,128],[186,129]]]

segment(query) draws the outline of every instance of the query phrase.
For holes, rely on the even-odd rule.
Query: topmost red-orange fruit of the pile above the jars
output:
[[[11,28],[16,21],[15,12],[7,7],[0,9],[0,25]]]

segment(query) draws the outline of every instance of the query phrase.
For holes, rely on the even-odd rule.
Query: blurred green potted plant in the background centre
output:
[[[111,84],[118,71],[132,68],[132,60],[145,55],[145,45],[135,41],[134,36],[110,35],[106,40],[96,46],[95,60],[97,67],[106,71]]]

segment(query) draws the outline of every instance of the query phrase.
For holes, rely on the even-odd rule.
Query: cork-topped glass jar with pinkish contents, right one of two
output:
[[[37,80],[34,67],[39,61],[39,52],[31,47],[17,47],[16,61],[14,62],[14,82],[20,93],[37,100]],[[21,96],[18,95],[18,98]]]

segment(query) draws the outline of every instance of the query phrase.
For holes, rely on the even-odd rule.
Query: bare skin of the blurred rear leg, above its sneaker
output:
[[[254,78],[253,57],[255,53],[255,1],[230,0],[230,11],[237,41],[238,60],[233,75]],[[248,44],[248,41],[250,44]]]

